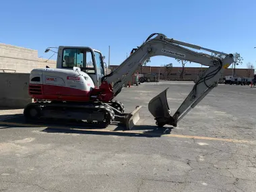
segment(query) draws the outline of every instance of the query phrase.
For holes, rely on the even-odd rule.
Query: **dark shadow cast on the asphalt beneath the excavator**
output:
[[[172,127],[157,127],[156,125],[134,125],[131,130],[127,130],[122,123],[111,123],[109,127],[101,128],[94,126],[83,126],[65,122],[24,122],[22,115],[0,115],[0,129],[22,128],[22,127],[42,127],[45,133],[76,133],[87,135],[115,135],[121,137],[161,137],[170,134]]]

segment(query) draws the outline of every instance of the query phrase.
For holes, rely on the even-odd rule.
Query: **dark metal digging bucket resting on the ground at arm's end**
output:
[[[166,97],[167,90],[168,88],[152,98],[148,103],[148,110],[150,110],[150,113],[154,116],[158,127],[163,127],[166,124],[173,125],[174,127],[177,126],[176,121],[174,121],[174,118],[170,115],[170,108]]]

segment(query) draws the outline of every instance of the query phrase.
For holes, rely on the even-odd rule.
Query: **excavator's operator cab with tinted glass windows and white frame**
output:
[[[105,75],[103,59],[100,51],[87,46],[59,46],[57,68],[73,70],[73,67],[80,67],[92,78],[94,86],[100,87]]]

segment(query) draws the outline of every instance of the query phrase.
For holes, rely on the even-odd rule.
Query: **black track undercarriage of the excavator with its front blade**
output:
[[[57,120],[105,128],[117,121],[131,129],[139,120],[138,110],[133,113],[124,113],[125,107],[119,101],[113,102],[63,102],[63,101],[38,101],[30,103],[24,108],[26,122],[46,123]],[[136,122],[133,122],[136,121]]]

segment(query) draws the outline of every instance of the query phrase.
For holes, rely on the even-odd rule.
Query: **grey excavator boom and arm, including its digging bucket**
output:
[[[152,38],[154,35],[157,36]],[[191,49],[187,49],[185,46],[192,49],[221,54],[224,58],[219,59],[206,53],[197,53],[191,51]],[[167,89],[150,100],[148,109],[155,117],[156,124],[160,127],[166,124],[176,127],[178,121],[180,121],[191,108],[194,108],[213,88],[218,86],[218,81],[224,69],[228,68],[234,62],[232,54],[220,53],[194,44],[167,38],[164,34],[152,34],[148,37],[146,42],[143,42],[137,49],[133,49],[132,52],[133,53],[125,59],[117,69],[102,78],[103,85],[106,86],[107,84],[110,86],[113,97],[121,92],[123,84],[135,73],[141,63],[146,59],[150,59],[150,57],[166,56],[209,66],[203,75],[197,79],[193,89],[173,116],[170,115],[170,109],[166,99]]]

